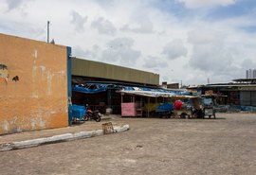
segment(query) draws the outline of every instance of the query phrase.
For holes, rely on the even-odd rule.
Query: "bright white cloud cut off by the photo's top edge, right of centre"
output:
[[[188,9],[210,8],[214,6],[229,6],[236,3],[236,0],[176,0],[184,3]]]

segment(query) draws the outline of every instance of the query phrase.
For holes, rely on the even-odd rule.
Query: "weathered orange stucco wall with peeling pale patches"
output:
[[[67,125],[66,47],[0,33],[0,134]]]

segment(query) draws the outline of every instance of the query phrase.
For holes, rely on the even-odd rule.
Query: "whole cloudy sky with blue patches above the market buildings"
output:
[[[72,47],[72,55],[185,85],[256,69],[255,0],[0,0],[0,33]]]

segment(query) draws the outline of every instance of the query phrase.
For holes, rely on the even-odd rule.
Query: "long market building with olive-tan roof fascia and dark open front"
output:
[[[121,114],[123,87],[159,87],[159,75],[151,72],[78,58],[72,59],[72,103],[92,110]]]

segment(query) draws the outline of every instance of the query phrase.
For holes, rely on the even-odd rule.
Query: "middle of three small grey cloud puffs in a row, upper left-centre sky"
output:
[[[97,28],[100,34],[115,35],[117,28],[109,20],[102,17],[92,22],[92,26]]]

